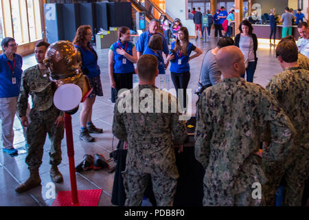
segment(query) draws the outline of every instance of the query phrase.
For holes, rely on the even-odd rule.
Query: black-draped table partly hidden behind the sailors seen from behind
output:
[[[122,148],[122,142],[119,142],[117,148]],[[116,206],[124,206],[126,193],[124,192],[123,179],[121,172],[126,168],[127,150],[120,150],[118,162],[115,170],[115,179],[111,202]],[[183,153],[178,153],[175,148],[176,166],[179,171],[177,179],[176,194],[174,195],[174,206],[203,206],[203,177],[205,170],[194,155],[194,137],[183,144]],[[148,184],[145,197],[156,206],[155,195],[152,191],[152,184]]]

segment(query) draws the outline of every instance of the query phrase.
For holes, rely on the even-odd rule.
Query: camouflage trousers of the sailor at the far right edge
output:
[[[308,179],[309,155],[299,150],[290,157],[291,162],[264,166],[268,182],[264,185],[265,205],[275,206],[275,194],[280,183],[284,184],[283,206],[301,206],[306,179]]]

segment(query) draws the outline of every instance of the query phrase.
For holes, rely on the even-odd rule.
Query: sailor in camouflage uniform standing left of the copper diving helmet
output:
[[[57,85],[49,80],[49,77],[44,76],[47,73],[47,69],[43,64],[43,59],[48,46],[49,43],[43,41],[36,44],[34,52],[38,65],[30,67],[23,72],[21,94],[17,102],[17,109],[22,124],[27,126],[29,148],[25,162],[30,170],[30,177],[15,189],[16,192],[25,192],[41,184],[38,168],[42,164],[43,146],[47,133],[51,141],[49,163],[52,164],[52,168],[50,176],[52,181],[56,183],[63,181],[62,174],[57,166],[61,163],[62,159],[61,140],[64,135],[64,120],[63,113],[54,106],[53,99]],[[32,96],[33,107],[30,111],[30,121],[28,122],[25,113],[29,94]]]

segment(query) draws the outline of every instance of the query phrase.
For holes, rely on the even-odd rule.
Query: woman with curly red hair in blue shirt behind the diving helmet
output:
[[[73,45],[82,55],[82,74],[89,78],[89,83],[93,91],[82,102],[82,111],[80,112],[80,140],[93,142],[94,137],[89,133],[102,133],[103,129],[94,126],[91,120],[92,107],[96,96],[103,96],[102,84],[100,78],[100,67],[98,66],[98,54],[91,45],[92,30],[90,25],[81,25],[76,31]]]

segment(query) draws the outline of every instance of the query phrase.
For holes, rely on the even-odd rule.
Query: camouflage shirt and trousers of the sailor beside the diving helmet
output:
[[[64,126],[56,127],[56,119],[62,112],[54,106],[53,98],[56,83],[42,76],[38,65],[23,72],[21,94],[17,102],[19,116],[23,116],[27,109],[29,94],[32,96],[33,107],[30,111],[30,121],[27,126],[28,155],[25,162],[30,170],[41,166],[43,146],[46,134],[49,135],[51,148],[49,163],[58,166],[61,163],[61,140],[64,135]]]

